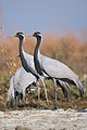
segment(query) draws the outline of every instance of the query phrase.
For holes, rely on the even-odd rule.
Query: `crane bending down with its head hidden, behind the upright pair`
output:
[[[23,67],[16,69],[15,74],[10,79],[10,88],[8,91],[7,104],[13,104],[14,100],[20,103],[20,100],[25,100],[26,89],[34,91],[37,89],[34,83],[36,77],[27,73]],[[16,99],[17,98],[17,99]]]

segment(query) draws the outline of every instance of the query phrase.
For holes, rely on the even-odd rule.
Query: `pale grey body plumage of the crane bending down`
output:
[[[33,76],[30,73],[27,73],[23,67],[18,68],[15,72],[14,75],[14,86],[20,88],[20,92],[25,94],[25,89],[32,84],[33,82],[36,82],[36,77]]]

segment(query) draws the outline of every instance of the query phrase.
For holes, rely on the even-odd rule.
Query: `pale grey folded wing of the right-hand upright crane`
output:
[[[69,78],[73,80],[75,76],[77,77],[65,64],[44,55],[40,55],[40,65],[42,70],[53,78]]]

